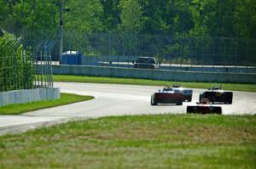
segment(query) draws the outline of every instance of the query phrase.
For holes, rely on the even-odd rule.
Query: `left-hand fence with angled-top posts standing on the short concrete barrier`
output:
[[[51,50],[54,44],[21,38],[0,39],[0,92],[53,87]]]

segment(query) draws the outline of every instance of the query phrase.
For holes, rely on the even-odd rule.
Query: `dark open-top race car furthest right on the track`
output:
[[[233,93],[222,90],[220,86],[212,87],[200,93],[199,100],[201,99],[209,99],[212,104],[232,104]]]

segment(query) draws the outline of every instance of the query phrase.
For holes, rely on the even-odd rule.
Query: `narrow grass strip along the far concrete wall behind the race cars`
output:
[[[166,86],[172,85],[174,82],[168,81],[154,81],[145,79],[131,79],[131,78],[114,78],[102,76],[65,76],[55,75],[55,82],[91,82],[91,83],[109,83],[109,84],[129,84],[129,85],[148,85],[148,86]],[[208,88],[216,85],[212,82],[177,82],[181,83],[183,87],[190,88]],[[225,90],[244,91],[256,93],[256,84],[239,84],[239,83],[218,83]]]

